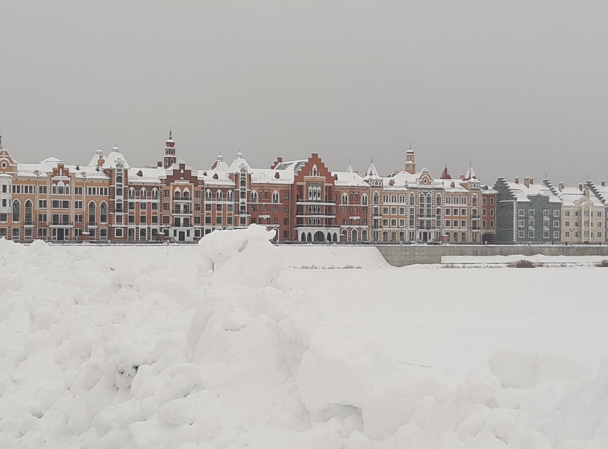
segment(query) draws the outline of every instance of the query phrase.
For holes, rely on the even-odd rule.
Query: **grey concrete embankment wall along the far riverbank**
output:
[[[608,245],[378,245],[389,264],[440,264],[441,256],[607,256]]]

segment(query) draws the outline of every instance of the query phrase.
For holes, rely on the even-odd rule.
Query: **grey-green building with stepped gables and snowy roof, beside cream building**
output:
[[[496,240],[499,243],[554,243],[561,241],[561,205],[550,183],[533,178],[507,182],[500,177],[497,191]]]

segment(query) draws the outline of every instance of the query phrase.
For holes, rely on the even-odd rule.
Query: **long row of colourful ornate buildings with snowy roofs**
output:
[[[194,170],[171,132],[155,165],[131,166],[119,148],[86,165],[49,157],[19,163],[0,136],[0,238],[14,241],[196,241],[252,223],[280,242],[605,242],[604,182],[555,188],[500,178],[483,185],[469,165],[452,179],[416,169],[381,176],[330,171],[318,154],[252,168],[243,154]]]

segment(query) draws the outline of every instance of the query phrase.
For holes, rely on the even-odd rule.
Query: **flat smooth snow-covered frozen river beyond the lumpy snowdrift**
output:
[[[489,372],[496,348],[567,355],[596,368],[608,354],[608,270],[285,270],[325,317],[403,363]]]

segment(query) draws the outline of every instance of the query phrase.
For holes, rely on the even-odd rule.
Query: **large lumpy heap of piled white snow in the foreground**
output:
[[[396,366],[281,284],[269,238],[160,262],[0,241],[0,447],[608,447],[608,361]]]

